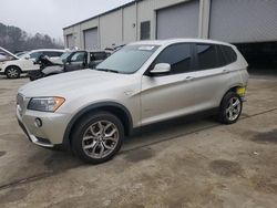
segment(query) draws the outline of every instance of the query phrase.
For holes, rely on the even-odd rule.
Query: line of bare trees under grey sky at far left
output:
[[[30,51],[35,49],[62,49],[62,41],[57,41],[48,34],[28,34],[18,27],[0,22],[0,46],[10,52]]]

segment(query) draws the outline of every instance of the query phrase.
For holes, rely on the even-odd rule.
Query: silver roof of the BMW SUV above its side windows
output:
[[[207,39],[167,39],[167,40],[151,40],[151,41],[138,41],[131,43],[130,45],[136,44],[154,44],[154,45],[170,45],[174,43],[212,43],[212,44],[223,44],[229,45],[232,44],[220,41],[207,40]]]

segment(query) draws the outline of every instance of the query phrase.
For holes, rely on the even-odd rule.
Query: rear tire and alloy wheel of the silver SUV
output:
[[[233,106],[230,106],[230,104],[233,104]],[[235,92],[228,92],[222,100],[218,119],[223,124],[234,124],[239,118],[242,111],[242,97]]]

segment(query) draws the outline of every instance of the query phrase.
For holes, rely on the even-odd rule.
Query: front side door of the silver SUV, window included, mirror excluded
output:
[[[142,125],[185,114],[195,103],[192,79],[192,44],[179,43],[166,48],[142,77]],[[151,74],[157,63],[171,64],[171,72]]]

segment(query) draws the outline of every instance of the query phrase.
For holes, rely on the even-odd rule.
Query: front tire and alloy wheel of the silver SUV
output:
[[[78,122],[71,138],[72,150],[80,159],[89,164],[101,164],[113,158],[120,150],[124,127],[115,115],[98,112]]]

